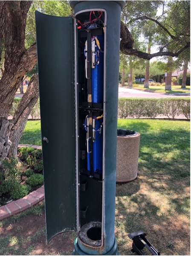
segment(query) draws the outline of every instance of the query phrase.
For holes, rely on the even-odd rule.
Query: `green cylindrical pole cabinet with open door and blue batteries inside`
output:
[[[120,13],[125,1],[36,12],[46,234],[74,255],[117,255],[114,236]]]

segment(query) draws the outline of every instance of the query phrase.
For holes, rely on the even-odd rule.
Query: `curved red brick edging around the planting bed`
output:
[[[34,145],[19,145],[19,148],[22,147],[30,147],[30,148],[41,148],[41,146],[34,146]],[[3,205],[0,207],[0,220],[7,218],[13,214],[23,212],[24,210],[32,207],[38,202],[44,199],[44,185],[41,186],[39,189],[29,193],[29,195],[24,196],[16,201],[12,201],[9,204]]]

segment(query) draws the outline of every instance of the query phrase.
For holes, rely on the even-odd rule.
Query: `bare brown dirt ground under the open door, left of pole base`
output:
[[[75,236],[72,232],[59,234],[47,245],[43,211],[42,215],[29,215],[0,228],[0,245],[7,247],[0,249],[0,255],[71,255]]]

